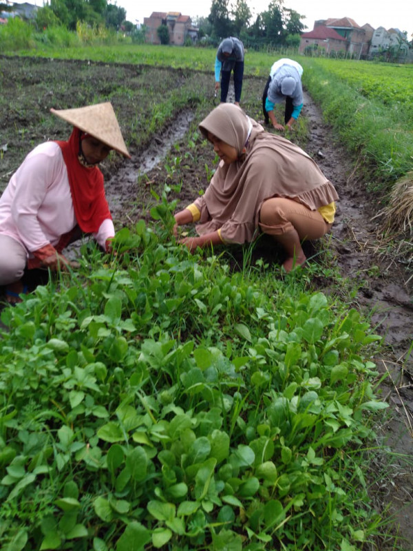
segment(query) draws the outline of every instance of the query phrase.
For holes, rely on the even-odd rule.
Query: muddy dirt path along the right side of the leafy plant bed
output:
[[[376,332],[383,335],[386,344],[383,353],[374,357],[379,371],[388,375],[380,391],[391,406],[388,418],[378,428],[379,444],[389,446],[392,453],[400,457],[388,457],[391,464],[388,470],[383,464],[372,464],[372,470],[379,477],[375,485],[376,506],[383,510],[390,502],[400,534],[406,540],[405,549],[413,549],[412,287],[406,283],[397,259],[380,254],[379,220],[372,220],[377,205],[357,180],[357,169],[323,123],[320,110],[308,94],[304,105],[310,127],[307,151],[335,184],[340,196],[332,229],[337,264],[342,275],[359,286],[354,306],[371,313],[372,324],[377,326]],[[410,466],[402,456],[410,456]],[[392,542],[389,549],[394,549]]]

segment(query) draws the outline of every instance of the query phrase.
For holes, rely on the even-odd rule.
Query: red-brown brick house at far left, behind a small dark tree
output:
[[[151,44],[160,44],[158,33],[160,25],[167,25],[169,30],[169,44],[182,46],[190,37],[196,42],[198,29],[192,26],[191,17],[180,12],[152,12],[151,17],[145,17],[143,24],[146,26],[146,41]]]

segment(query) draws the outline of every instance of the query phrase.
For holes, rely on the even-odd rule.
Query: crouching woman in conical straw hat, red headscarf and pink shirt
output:
[[[114,149],[130,158],[111,103],[51,112],[73,126],[68,141],[35,147],[0,198],[0,285],[20,300],[25,269],[56,271],[70,264],[63,249],[92,233],[111,250],[114,224],[98,164]]]

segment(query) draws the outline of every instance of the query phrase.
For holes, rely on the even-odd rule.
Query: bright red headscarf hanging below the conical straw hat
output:
[[[103,174],[98,167],[83,167],[78,160],[81,130],[74,127],[67,142],[57,141],[67,167],[74,214],[85,233],[98,231],[103,220],[112,216],[103,187]]]

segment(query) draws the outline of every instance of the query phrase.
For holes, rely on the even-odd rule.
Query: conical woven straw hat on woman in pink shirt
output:
[[[116,149],[125,157],[131,158],[123,141],[114,108],[109,101],[78,107],[78,109],[56,110],[52,108],[50,111],[63,118],[63,121],[67,121],[67,123],[109,145],[112,149]]]

